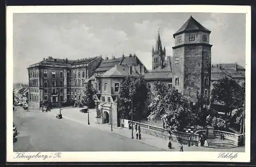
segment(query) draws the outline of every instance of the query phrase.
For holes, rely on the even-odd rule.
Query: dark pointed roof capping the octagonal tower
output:
[[[195,20],[192,16],[180,27],[180,29],[174,34],[174,37],[178,34],[188,31],[204,31],[210,33],[202,24]]]

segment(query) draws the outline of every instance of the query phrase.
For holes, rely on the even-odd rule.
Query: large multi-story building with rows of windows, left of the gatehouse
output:
[[[76,61],[48,57],[30,65],[28,68],[30,105],[39,107],[44,100],[53,103],[80,100],[83,79],[88,79],[100,62],[100,57]]]

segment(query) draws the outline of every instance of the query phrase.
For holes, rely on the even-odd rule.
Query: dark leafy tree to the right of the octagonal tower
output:
[[[245,87],[241,87],[233,79],[224,78],[213,84],[211,103],[225,106],[225,116],[231,116],[234,106],[242,106]]]

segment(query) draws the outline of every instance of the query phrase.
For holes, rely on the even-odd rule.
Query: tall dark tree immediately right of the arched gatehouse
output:
[[[117,97],[118,113],[121,118],[131,119],[133,102],[133,118],[135,120],[142,119],[143,111],[146,108],[147,92],[143,77],[125,77]]]

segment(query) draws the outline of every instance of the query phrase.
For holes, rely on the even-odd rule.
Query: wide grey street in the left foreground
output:
[[[66,119],[65,116],[56,119],[55,116],[53,113],[16,107],[13,120],[18,135],[13,145],[14,151],[162,151],[110,130],[87,125],[87,120],[82,123]]]

